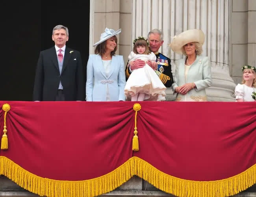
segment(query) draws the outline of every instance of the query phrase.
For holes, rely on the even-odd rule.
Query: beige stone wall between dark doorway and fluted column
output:
[[[91,22],[93,43],[99,40],[100,34],[106,27],[114,30],[121,28],[122,32],[117,35],[117,54],[124,56],[126,64],[132,43],[132,0],[91,0],[91,2],[94,9],[93,22]],[[93,50],[94,48],[91,48],[91,53]]]

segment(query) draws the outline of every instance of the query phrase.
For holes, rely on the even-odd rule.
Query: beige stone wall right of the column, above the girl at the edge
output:
[[[232,0],[230,76],[241,83],[241,67],[256,66],[256,0]]]

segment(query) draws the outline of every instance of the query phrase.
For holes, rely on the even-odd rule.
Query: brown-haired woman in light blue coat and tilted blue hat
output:
[[[95,54],[89,56],[87,63],[86,100],[87,101],[119,101],[125,100],[124,59],[115,55],[117,50],[117,34],[106,28],[100,41],[93,46]]]

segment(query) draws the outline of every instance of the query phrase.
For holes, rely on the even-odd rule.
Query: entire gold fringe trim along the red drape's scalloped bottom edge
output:
[[[58,181],[34,175],[0,156],[0,175],[22,188],[48,197],[93,197],[108,193],[137,175],[156,188],[180,197],[227,197],[256,183],[256,164],[233,177],[218,181],[189,181],[163,173],[148,162],[132,157],[110,173],[85,181]]]

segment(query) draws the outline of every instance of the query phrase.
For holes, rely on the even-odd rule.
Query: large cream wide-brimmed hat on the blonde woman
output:
[[[182,54],[182,47],[189,42],[198,42],[204,44],[204,32],[200,29],[189,29],[174,36],[170,46],[175,53]]]

